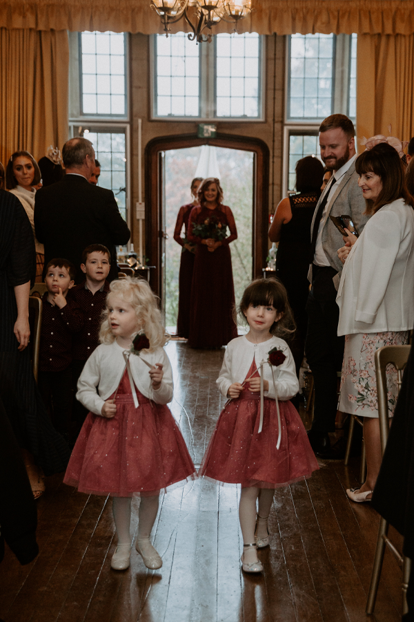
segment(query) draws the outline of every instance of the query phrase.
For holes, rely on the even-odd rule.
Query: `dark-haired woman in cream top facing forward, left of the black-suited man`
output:
[[[36,283],[41,283],[43,265],[45,263],[45,249],[43,244],[37,241],[34,234],[34,196],[37,186],[41,181],[39,165],[28,151],[14,151],[6,167],[6,188],[14,196],[17,196],[23,205],[32,225],[34,245],[36,247]]]

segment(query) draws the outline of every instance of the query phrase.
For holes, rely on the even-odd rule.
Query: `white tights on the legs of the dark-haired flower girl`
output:
[[[256,514],[262,518],[267,518],[272,507],[273,495],[275,491],[270,488],[246,487],[242,488],[239,503],[239,520],[242,527],[243,543],[253,544],[255,542]],[[259,498],[259,511],[256,509],[257,498]],[[261,533],[263,531],[263,533]],[[267,536],[266,525],[258,525],[258,536]],[[246,563],[253,563],[257,560],[257,552],[254,547],[244,549],[244,559]],[[250,559],[251,558],[251,559]]]

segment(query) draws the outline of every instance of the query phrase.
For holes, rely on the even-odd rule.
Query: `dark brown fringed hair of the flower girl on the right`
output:
[[[279,281],[279,279],[257,279],[247,286],[237,309],[239,317],[244,322],[246,322],[246,312],[250,305],[272,305],[278,313],[283,313],[279,321],[274,322],[270,327],[270,332],[275,337],[286,339],[286,337],[295,332],[295,320],[288,302],[288,294],[282,281]]]

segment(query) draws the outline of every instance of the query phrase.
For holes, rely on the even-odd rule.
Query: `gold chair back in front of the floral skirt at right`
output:
[[[380,421],[382,455],[384,455],[389,432],[386,366],[392,364],[397,370],[397,386],[400,393],[402,372],[408,361],[410,350],[411,346],[383,346],[375,352],[375,377],[377,378],[378,417]]]

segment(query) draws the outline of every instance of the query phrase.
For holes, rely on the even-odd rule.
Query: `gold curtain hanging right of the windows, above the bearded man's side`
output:
[[[414,35],[358,35],[357,142],[390,124],[393,136],[414,136]]]

